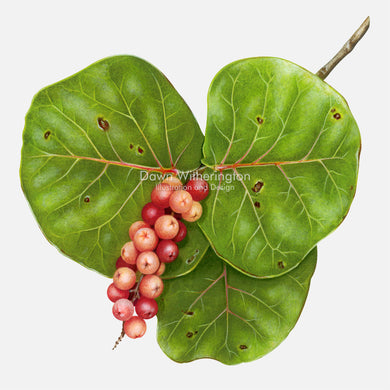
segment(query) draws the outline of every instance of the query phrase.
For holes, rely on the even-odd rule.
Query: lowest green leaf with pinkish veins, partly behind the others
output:
[[[317,251],[278,278],[244,275],[210,248],[187,276],[164,282],[157,340],[171,359],[248,362],[276,348],[304,306]]]

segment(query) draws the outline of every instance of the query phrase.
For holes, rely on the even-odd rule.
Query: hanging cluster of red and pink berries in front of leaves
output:
[[[183,188],[178,178],[170,176],[153,189],[151,202],[142,209],[142,221],[130,226],[131,241],[123,245],[113,283],[107,289],[114,302],[112,313],[123,322],[122,335],[135,339],[145,334],[145,320],[158,311],[155,299],[164,288],[160,276],[165,264],[177,258],[177,243],[187,235],[181,219],[197,221],[202,215],[199,201],[208,192],[202,178],[191,179]]]

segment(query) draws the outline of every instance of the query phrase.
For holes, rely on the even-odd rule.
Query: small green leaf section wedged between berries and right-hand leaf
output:
[[[210,247],[196,223],[182,221],[187,227],[187,235],[183,241],[177,243],[179,256],[172,263],[167,263],[163,279],[176,278],[191,272],[202,260]]]

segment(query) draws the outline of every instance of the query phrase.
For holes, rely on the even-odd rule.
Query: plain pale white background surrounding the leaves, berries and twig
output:
[[[389,25],[387,1],[4,1],[0,6],[1,389],[388,389]],[[319,245],[290,336],[252,363],[177,364],[155,340],[111,351],[120,325],[109,280],[63,257],[40,232],[18,178],[33,95],[114,54],[163,71],[202,128],[215,73],[251,56],[316,72],[364,18],[371,28],[327,82],[363,139],[356,198]]]

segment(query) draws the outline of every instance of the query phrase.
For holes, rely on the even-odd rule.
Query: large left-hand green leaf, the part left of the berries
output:
[[[153,186],[165,173],[197,168],[202,143],[193,114],[160,71],[136,57],[111,57],[34,97],[22,187],[53,245],[112,276]]]

